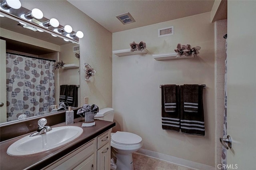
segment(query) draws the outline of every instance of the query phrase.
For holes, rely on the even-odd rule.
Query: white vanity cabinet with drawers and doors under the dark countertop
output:
[[[110,170],[110,130],[53,162],[45,170]]]

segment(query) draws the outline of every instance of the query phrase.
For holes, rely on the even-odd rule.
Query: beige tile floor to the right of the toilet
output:
[[[193,170],[142,154],[132,154],[134,170]]]

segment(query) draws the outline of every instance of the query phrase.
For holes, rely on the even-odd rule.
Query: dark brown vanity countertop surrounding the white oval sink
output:
[[[82,127],[82,118],[74,120],[73,125],[66,125],[66,123],[60,123],[52,127],[62,127],[62,126],[77,126]],[[7,148],[15,141],[27,136],[29,134],[24,134],[10,140],[0,142],[0,169],[1,170],[21,170],[21,169],[42,169],[48,164],[58,160],[62,156],[72,152],[75,148],[82,146],[86,142],[92,140],[96,136],[99,136],[106,130],[115,126],[114,122],[108,121],[95,121],[95,127],[83,127],[83,133],[71,142],[64,144],[58,148],[42,152],[39,154],[33,154],[29,156],[10,156],[7,154]]]

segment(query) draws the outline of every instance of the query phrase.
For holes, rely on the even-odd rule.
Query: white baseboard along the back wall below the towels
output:
[[[177,165],[180,165],[180,166],[185,166],[187,168],[192,168],[192,169],[195,169],[195,170],[215,170],[215,168],[213,166],[200,164],[200,163],[197,163],[197,162],[193,162],[191,160],[177,158],[175,156],[161,154],[159,152],[154,152],[154,151],[146,150],[146,149],[142,149],[142,148],[140,148],[136,153],[143,154],[143,155],[146,155],[146,156],[150,156],[152,158],[157,158],[157,159],[160,159],[160,160],[164,160],[166,162],[170,162],[170,163],[177,164]]]

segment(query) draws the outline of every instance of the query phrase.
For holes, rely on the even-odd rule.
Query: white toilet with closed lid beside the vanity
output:
[[[114,109],[100,109],[94,118],[113,122]],[[132,153],[142,147],[142,138],[134,133],[117,131],[111,133],[111,146],[116,152],[117,170],[133,170]]]

